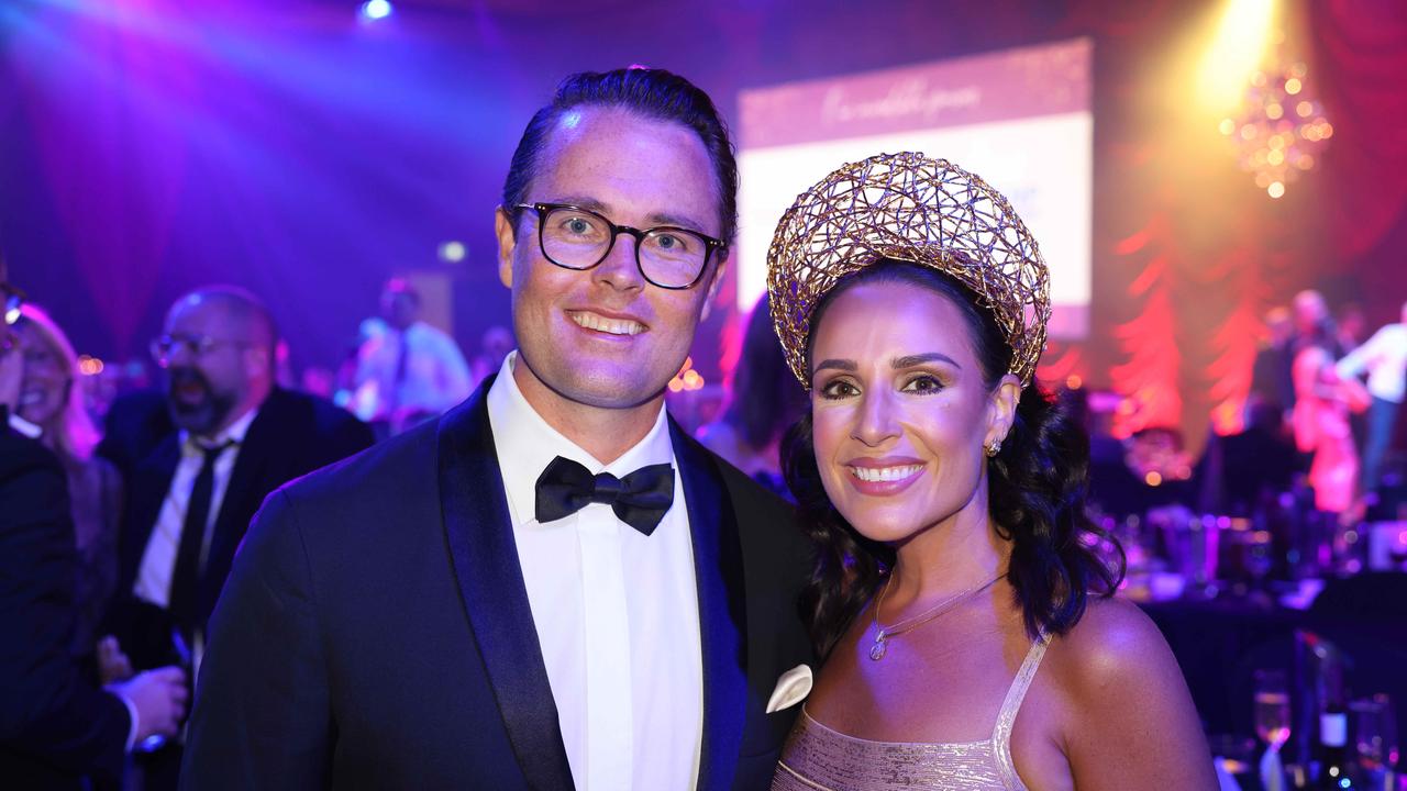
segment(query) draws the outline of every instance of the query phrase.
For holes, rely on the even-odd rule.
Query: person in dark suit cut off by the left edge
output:
[[[11,331],[24,294],[0,260],[0,784],[117,787],[125,753],[169,736],[186,709],[180,669],[100,690],[69,646],[77,549],[63,467],[14,415],[24,355]]]

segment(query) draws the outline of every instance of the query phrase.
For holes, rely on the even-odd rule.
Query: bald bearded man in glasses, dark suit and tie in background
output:
[[[205,621],[263,498],[371,445],[366,424],[332,403],[276,386],[277,342],[267,308],[228,286],[177,300],[152,342],[176,428],[128,474],[108,618],[117,664],[198,667]],[[176,753],[142,761],[146,788],[174,787]]]

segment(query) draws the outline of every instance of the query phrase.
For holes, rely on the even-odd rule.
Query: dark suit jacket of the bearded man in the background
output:
[[[274,390],[265,398],[259,414],[249,424],[215,518],[196,600],[201,624],[215,608],[219,588],[235,559],[235,549],[265,497],[284,483],[369,448],[371,442],[371,429],[366,424],[326,400],[291,390]],[[156,526],[179,463],[180,435],[172,431],[136,464],[127,480],[127,514],[117,581],[120,605],[110,619],[110,626],[120,635],[129,625],[124,605],[131,604],[128,597],[141,570],[146,542]],[[132,660],[142,667],[174,659],[151,656],[160,646],[129,647],[129,653],[135,652]]]

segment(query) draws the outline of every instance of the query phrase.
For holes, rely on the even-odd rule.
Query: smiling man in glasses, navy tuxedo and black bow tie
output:
[[[791,510],[664,391],[737,169],[664,70],[584,73],[495,214],[519,349],[436,421],[274,493],[211,621],[187,788],[765,788],[813,657]]]

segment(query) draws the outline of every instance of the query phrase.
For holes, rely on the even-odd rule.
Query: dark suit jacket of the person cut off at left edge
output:
[[[0,787],[121,776],[127,707],[69,656],[76,567],[63,469],[0,407]]]

